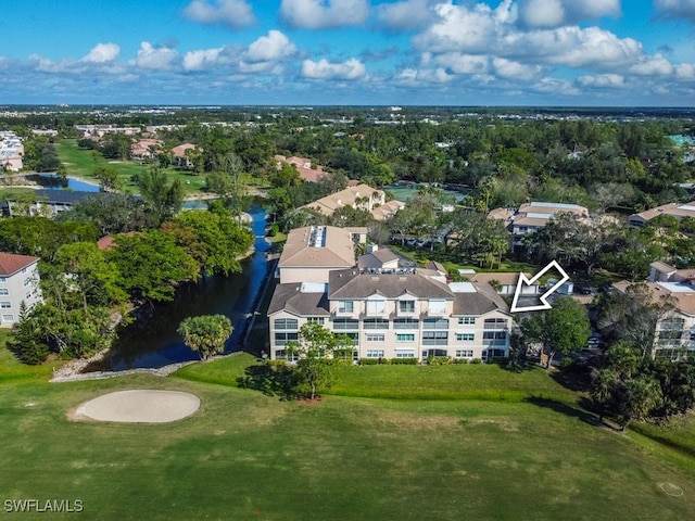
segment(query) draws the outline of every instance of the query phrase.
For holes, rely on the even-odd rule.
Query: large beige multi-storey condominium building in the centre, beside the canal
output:
[[[323,262],[333,240],[352,244],[355,229],[311,227],[296,236],[303,247],[286,246],[282,257],[316,260],[316,274],[305,263],[286,275],[280,258],[279,277],[268,308],[270,357],[287,358],[288,342],[298,339],[306,322],[318,322],[352,340],[353,358],[417,358],[448,356],[459,359],[503,358],[509,355],[511,315],[505,301],[488,283],[448,282],[437,265],[415,267],[390,250],[371,249],[351,266],[329,267]],[[294,230],[298,231],[298,230]],[[325,242],[312,241],[320,234]],[[345,262],[348,258],[343,258]],[[285,259],[287,260],[287,259]]]

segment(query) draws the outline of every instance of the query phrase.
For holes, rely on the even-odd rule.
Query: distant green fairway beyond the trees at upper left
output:
[[[90,150],[77,147],[76,139],[61,139],[55,143],[55,149],[61,162],[67,169],[68,176],[99,182],[99,179],[94,176],[97,164]],[[150,168],[149,165],[142,165],[137,161],[100,161],[101,164],[114,168],[118,173],[118,178],[124,188],[132,193],[138,193],[137,187],[131,182],[132,176]],[[166,168],[165,171],[169,179],[179,179],[181,181],[188,195],[203,193],[202,189],[205,186],[203,176],[193,176],[186,170],[179,170],[174,167]]]

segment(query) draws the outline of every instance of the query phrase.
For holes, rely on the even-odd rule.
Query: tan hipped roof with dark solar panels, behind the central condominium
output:
[[[344,267],[355,265],[355,252],[350,231],[325,226],[325,245],[309,244],[316,228],[306,226],[290,231],[280,255],[278,266],[283,267]]]

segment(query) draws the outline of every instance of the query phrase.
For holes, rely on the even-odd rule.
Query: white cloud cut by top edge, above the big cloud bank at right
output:
[[[529,27],[559,27],[603,16],[620,16],[620,0],[520,0]]]

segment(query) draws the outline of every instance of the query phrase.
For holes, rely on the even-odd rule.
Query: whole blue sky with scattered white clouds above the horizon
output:
[[[7,104],[695,104],[695,0],[3,7]]]

